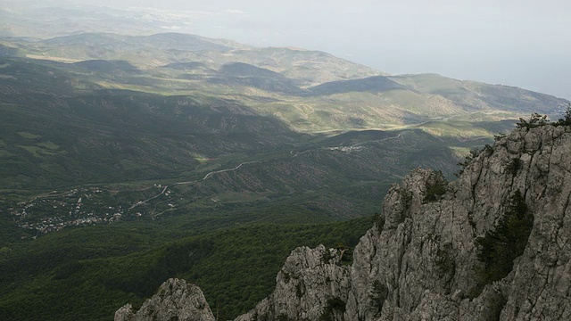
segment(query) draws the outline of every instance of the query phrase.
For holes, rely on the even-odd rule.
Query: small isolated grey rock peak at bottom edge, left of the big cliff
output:
[[[115,312],[115,321],[147,320],[214,321],[214,317],[198,286],[169,279],[161,284],[153,298],[145,300],[137,313],[130,304]]]

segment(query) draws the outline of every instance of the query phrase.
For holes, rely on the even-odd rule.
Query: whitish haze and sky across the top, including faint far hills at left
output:
[[[392,73],[437,72],[570,98],[566,2],[5,0],[1,7],[5,36],[175,31],[319,49]]]

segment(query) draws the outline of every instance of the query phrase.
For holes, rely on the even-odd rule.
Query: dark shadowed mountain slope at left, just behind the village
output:
[[[32,179],[49,174],[50,185],[128,180],[143,172],[146,178],[172,177],[195,169],[198,154],[260,151],[301,139],[277,119],[236,101],[129,91],[73,94],[70,86],[79,80],[68,72],[21,60],[4,62],[13,75],[0,89],[4,187],[25,184],[15,177],[22,172]],[[128,62],[74,66],[113,77],[137,74]],[[260,134],[266,131],[274,135]]]

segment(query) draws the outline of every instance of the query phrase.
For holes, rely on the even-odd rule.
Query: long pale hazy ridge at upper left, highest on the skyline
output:
[[[4,37],[0,44],[14,48],[19,55],[35,59],[62,62],[127,60],[143,69],[176,62],[202,62],[218,70],[226,63],[243,62],[283,73],[287,78],[306,85],[382,74],[328,53],[292,48],[256,48],[228,40],[179,33],[151,36],[83,33],[45,40]]]

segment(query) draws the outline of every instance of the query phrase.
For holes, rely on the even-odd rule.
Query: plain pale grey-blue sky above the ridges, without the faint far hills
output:
[[[391,74],[434,72],[571,99],[567,0],[66,1],[184,12],[192,17],[186,30],[204,37],[321,50]]]

